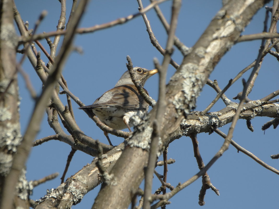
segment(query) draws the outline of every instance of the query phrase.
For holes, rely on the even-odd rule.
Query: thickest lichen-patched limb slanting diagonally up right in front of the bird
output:
[[[167,85],[166,111],[161,127],[161,150],[182,119],[195,107],[196,98],[210,73],[252,16],[268,1],[230,1],[216,14],[208,28]],[[92,208],[127,208],[143,179],[157,106],[136,127],[126,149],[112,168],[113,183],[102,185]],[[132,156],[132,157],[131,157]],[[121,169],[120,169],[121,168]],[[131,172],[131,170],[133,172]]]

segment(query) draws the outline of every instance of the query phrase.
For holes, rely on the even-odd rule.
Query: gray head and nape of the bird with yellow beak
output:
[[[141,86],[143,87],[145,82],[149,77],[156,74],[158,72],[157,69],[154,70],[148,70],[142,67],[134,67],[133,71],[135,72],[136,79],[140,81]],[[129,71],[124,72],[124,74],[121,76],[119,81],[115,84],[114,87],[125,85],[125,84],[132,84],[134,85],[131,76],[129,74]]]

